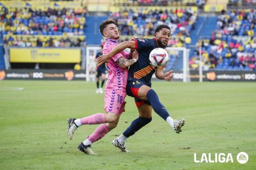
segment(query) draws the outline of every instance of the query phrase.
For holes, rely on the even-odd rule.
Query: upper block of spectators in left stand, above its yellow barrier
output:
[[[17,35],[84,35],[86,9],[0,9],[0,32]]]

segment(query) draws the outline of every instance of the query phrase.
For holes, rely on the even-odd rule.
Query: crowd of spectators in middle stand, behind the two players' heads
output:
[[[109,18],[116,21],[121,35],[150,36],[161,24],[171,28],[172,35],[190,36],[194,29],[197,14],[191,9],[147,10],[132,9],[109,13]]]

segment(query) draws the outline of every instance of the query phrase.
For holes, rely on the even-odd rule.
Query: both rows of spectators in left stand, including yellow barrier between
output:
[[[78,47],[85,45],[83,31],[86,23],[85,8],[36,10],[3,7],[0,9],[0,16],[0,33],[5,46]],[[78,38],[69,38],[73,36]]]

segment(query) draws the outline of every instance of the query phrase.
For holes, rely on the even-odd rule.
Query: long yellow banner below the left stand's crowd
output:
[[[10,62],[14,63],[79,63],[80,49],[10,48]]]

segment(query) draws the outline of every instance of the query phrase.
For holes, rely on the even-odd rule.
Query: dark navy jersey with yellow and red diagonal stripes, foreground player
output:
[[[153,49],[158,48],[156,38],[136,39],[134,41],[139,58],[129,68],[128,81],[140,80],[151,87],[151,77],[156,71],[156,68],[150,65],[149,54]]]

